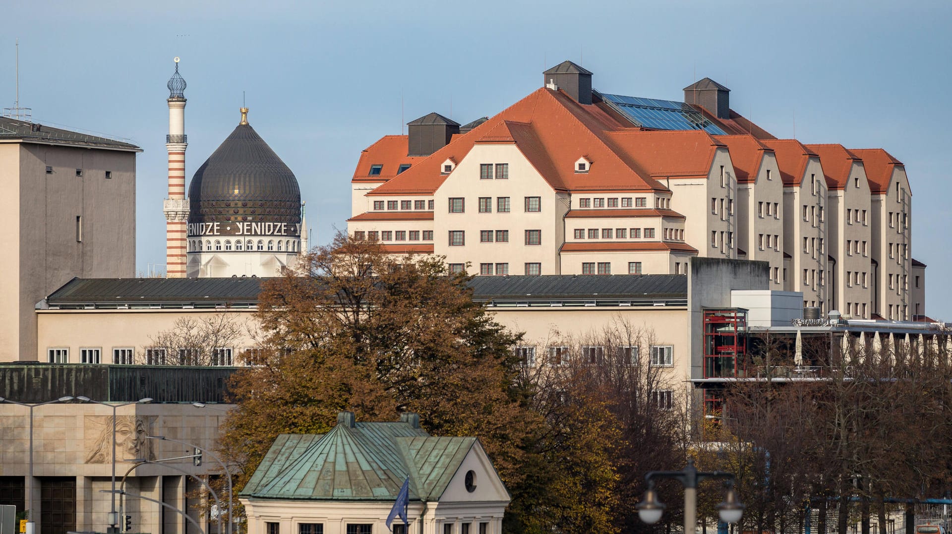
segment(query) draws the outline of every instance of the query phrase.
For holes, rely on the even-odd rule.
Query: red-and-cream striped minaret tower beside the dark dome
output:
[[[166,214],[166,276],[185,278],[186,224],[188,199],[185,197],[185,79],[178,73],[179,58],[175,58],[175,73],[169,78],[169,198],[163,202]]]

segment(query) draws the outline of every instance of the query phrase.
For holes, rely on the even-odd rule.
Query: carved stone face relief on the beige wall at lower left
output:
[[[116,417],[116,464],[133,458],[155,460],[151,440],[155,416],[120,415]],[[85,422],[85,451],[87,464],[112,463],[112,416],[87,415]]]

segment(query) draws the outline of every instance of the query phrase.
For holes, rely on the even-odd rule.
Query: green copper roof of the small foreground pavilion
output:
[[[282,434],[242,490],[264,499],[396,499],[407,476],[410,500],[437,500],[476,438],[438,438],[410,421],[354,423],[327,434]]]

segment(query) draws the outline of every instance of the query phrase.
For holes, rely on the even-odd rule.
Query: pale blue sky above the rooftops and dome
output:
[[[129,139],[136,263],[165,265],[166,83],[188,82],[186,175],[248,120],[301,185],[311,245],[350,215],[362,149],[430,111],[461,124],[543,85],[568,59],[604,92],[681,100],[708,76],[780,138],[882,147],[913,193],[926,313],[952,320],[952,2],[520,0],[15,2],[0,32],[0,104]]]

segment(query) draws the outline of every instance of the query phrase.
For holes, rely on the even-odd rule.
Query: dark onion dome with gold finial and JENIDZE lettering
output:
[[[242,108],[241,124],[195,172],[188,200],[189,227],[219,223],[221,234],[248,234],[247,225],[228,223],[272,223],[267,233],[299,235],[301,189],[297,178],[248,124],[247,108]],[[279,226],[282,229],[277,229]]]

